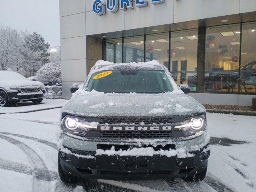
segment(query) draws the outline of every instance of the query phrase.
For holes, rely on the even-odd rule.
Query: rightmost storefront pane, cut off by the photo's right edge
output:
[[[256,22],[242,25],[241,93],[256,93]]]

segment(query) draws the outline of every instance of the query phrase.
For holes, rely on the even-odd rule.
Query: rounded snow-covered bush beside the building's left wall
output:
[[[61,82],[61,66],[59,62],[50,62],[40,68],[36,76],[41,82]]]

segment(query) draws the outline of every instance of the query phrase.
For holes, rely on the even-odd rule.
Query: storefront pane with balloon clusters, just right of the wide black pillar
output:
[[[238,92],[240,24],[206,28],[207,92]]]

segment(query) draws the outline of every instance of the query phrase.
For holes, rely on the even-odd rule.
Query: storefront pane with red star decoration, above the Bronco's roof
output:
[[[158,60],[168,68],[169,33],[146,36],[146,61]]]

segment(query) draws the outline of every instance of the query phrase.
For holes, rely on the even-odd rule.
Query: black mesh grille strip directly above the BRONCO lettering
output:
[[[140,124],[144,122],[145,124],[172,124],[171,117],[101,117],[100,124],[119,124],[119,123],[128,123],[128,124]]]

